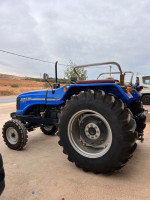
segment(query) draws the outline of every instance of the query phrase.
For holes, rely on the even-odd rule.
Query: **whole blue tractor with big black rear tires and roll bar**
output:
[[[112,78],[81,80],[78,68],[113,64],[119,69],[120,80]],[[21,150],[27,132],[40,127],[46,135],[59,136],[59,145],[68,160],[84,171],[107,173],[122,168],[136,149],[136,140],[143,141],[147,111],[140,99],[140,86],[126,84],[116,62],[76,66],[77,77],[70,84],[51,90],[20,94],[17,111],[3,126],[6,145]],[[116,73],[116,72],[114,72]],[[44,74],[48,80],[48,75]]]

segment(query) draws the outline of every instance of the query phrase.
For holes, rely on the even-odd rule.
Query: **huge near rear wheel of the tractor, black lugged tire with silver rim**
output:
[[[59,144],[68,160],[94,173],[120,169],[136,148],[136,123],[123,102],[103,91],[80,92],[59,117]]]

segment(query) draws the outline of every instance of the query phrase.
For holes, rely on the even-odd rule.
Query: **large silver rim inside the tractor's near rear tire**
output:
[[[68,138],[73,148],[88,158],[105,155],[112,144],[112,131],[107,120],[93,110],[76,112],[68,124]]]

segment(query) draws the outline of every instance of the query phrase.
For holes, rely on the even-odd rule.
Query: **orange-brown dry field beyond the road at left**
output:
[[[16,96],[23,92],[44,88],[44,82],[25,80],[22,77],[0,76],[0,96]]]

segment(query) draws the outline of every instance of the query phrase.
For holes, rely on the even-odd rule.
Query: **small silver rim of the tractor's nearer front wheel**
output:
[[[17,144],[18,133],[13,127],[9,127],[6,131],[6,137],[10,144]]]

